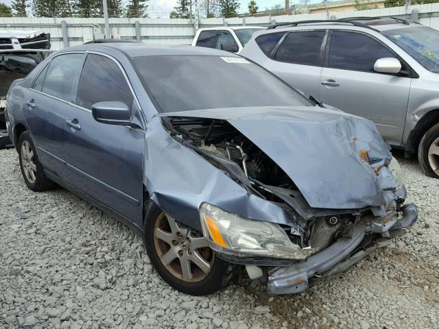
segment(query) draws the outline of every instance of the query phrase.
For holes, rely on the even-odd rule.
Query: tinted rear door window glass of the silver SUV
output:
[[[294,64],[320,66],[320,49],[324,31],[292,32],[276,52],[276,60]]]

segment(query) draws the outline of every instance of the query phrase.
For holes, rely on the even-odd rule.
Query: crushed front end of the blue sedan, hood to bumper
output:
[[[403,205],[399,164],[370,121],[317,107],[196,110],[160,119],[166,149],[191,151],[183,167],[194,154],[210,166],[198,168],[200,182],[182,170],[194,184],[183,183],[184,195],[147,182],[152,199],[181,221],[172,208],[191,216],[196,206],[211,249],[249,269],[268,267],[270,293],[298,293],[312,278],[341,273],[416,222],[416,206]]]

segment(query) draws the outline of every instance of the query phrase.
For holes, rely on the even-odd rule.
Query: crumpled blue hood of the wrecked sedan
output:
[[[395,188],[390,171],[380,170],[392,158],[390,147],[371,121],[351,114],[316,106],[224,108],[158,116],[228,121],[289,175],[313,208],[381,206],[383,190]]]

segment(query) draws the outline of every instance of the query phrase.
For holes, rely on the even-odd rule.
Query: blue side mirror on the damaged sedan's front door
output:
[[[131,125],[131,111],[121,101],[100,101],[91,107],[93,118],[110,125]]]

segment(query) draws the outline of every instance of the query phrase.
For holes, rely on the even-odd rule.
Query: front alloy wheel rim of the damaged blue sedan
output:
[[[176,278],[199,282],[209,275],[215,254],[207,239],[161,212],[154,225],[154,246],[158,258]]]

